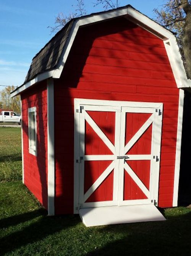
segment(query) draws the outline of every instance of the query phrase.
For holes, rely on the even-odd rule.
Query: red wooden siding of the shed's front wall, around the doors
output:
[[[179,90],[163,41],[125,18],[81,28],[55,80],[55,212],[73,212],[74,98],[163,102],[159,206],[172,206]]]

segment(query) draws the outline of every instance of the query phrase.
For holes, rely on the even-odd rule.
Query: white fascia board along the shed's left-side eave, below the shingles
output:
[[[46,71],[40,75],[37,75],[34,79],[32,79],[31,81],[29,81],[26,84],[23,84],[23,86],[19,87],[18,89],[16,89],[14,92],[11,92],[11,98],[20,94],[22,91],[28,89],[30,86],[32,86],[33,84],[36,84],[40,81],[43,81],[47,78],[51,78],[53,75],[53,70],[51,71]]]

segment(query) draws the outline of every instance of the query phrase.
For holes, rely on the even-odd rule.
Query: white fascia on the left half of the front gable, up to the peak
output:
[[[73,24],[73,27],[71,28],[71,32],[68,38],[68,43],[67,45],[65,45],[63,51],[62,51],[62,55],[60,57],[60,63],[58,65],[58,68],[54,71],[53,73],[53,78],[60,78],[63,67],[66,63],[66,59],[68,57],[68,54],[70,52],[70,49],[73,45],[74,39],[76,37],[76,34],[78,32],[78,29],[80,26],[85,26],[87,24],[91,24],[91,23],[96,23],[99,21],[103,21],[103,20],[107,20],[107,19],[112,19],[112,18],[116,18],[119,16],[124,16],[127,15],[127,7],[120,9],[120,10],[113,10],[107,13],[102,13],[99,15],[92,15],[90,17],[87,18],[80,18],[78,19],[78,21],[76,21]]]

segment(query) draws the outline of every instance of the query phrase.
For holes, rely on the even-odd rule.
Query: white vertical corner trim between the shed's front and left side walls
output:
[[[54,156],[54,83],[47,80],[47,140],[48,140],[48,214],[54,215],[55,156]]]

